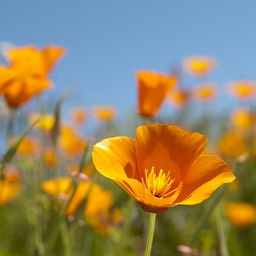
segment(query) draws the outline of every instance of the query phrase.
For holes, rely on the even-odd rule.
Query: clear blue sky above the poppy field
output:
[[[55,92],[77,84],[83,106],[136,104],[134,71],[167,72],[187,55],[219,61],[209,80],[256,79],[256,1],[2,0],[0,39],[63,45]],[[227,96],[228,97],[228,96]]]

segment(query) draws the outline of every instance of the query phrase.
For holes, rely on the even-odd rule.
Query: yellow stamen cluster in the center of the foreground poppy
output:
[[[154,172],[153,166],[150,173],[149,170],[145,169],[145,179],[142,178],[142,184],[144,188],[147,188],[147,190],[153,194],[153,196],[162,198],[173,193],[174,190],[170,191],[170,188],[174,180],[175,178],[171,180],[170,171],[166,174],[163,173],[163,169],[161,169],[157,175]]]

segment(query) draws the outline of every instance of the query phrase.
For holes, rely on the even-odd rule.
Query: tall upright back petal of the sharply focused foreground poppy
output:
[[[170,171],[178,186],[186,171],[206,147],[207,138],[200,133],[187,132],[168,124],[139,126],[136,131],[137,166],[140,177],[144,169]]]

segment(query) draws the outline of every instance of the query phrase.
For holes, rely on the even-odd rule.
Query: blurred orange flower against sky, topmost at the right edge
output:
[[[228,89],[237,99],[247,100],[255,95],[256,83],[247,80],[236,81],[230,83]]]

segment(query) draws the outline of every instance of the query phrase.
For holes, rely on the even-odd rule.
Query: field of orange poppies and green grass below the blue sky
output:
[[[256,82],[230,78],[237,102],[216,110],[218,60],[188,56],[134,70],[130,112],[66,111],[75,87],[42,96],[67,54],[12,46],[1,61],[0,256],[256,255]]]

